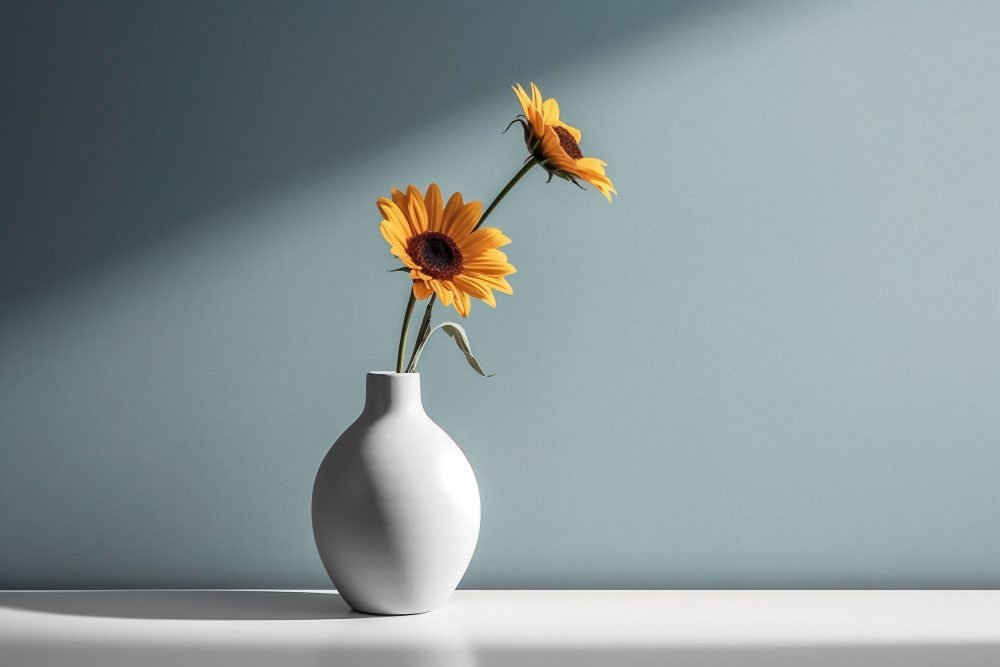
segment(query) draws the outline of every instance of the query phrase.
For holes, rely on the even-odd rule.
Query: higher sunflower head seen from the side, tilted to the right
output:
[[[513,88],[524,110],[524,115],[515,122],[521,123],[524,143],[528,145],[531,155],[549,172],[549,177],[559,176],[577,185],[580,180],[586,181],[611,201],[611,195],[618,194],[618,191],[604,174],[608,163],[584,156],[580,150],[583,135],[580,130],[560,120],[559,103],[555,98],[544,100],[534,83],[531,84],[531,97],[521,84]]]

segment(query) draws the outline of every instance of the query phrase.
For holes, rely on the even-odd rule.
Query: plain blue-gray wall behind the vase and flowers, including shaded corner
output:
[[[1000,586],[1000,5],[0,5],[0,586],[322,586],[390,367],[376,197],[488,199],[514,297],[425,404],[470,587]]]

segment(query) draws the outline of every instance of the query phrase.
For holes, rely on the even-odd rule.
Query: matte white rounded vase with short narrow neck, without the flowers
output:
[[[479,487],[424,412],[417,373],[369,373],[361,416],[316,474],[313,535],[344,601],[373,614],[440,606],[479,539]]]

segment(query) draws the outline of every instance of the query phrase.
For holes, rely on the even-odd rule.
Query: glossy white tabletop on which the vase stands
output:
[[[1000,591],[0,592],[0,667],[1000,665]]]

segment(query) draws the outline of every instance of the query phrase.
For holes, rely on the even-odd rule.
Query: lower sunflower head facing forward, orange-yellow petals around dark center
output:
[[[469,297],[496,308],[493,290],[514,293],[505,276],[516,269],[497,250],[510,239],[495,227],[473,231],[482,208],[477,201],[463,202],[458,192],[443,205],[436,183],[426,195],[411,185],[405,193],[393,188],[391,199],[378,200],[379,230],[392,254],[410,270],[416,298],[437,294],[441,303],[468,317]]]

